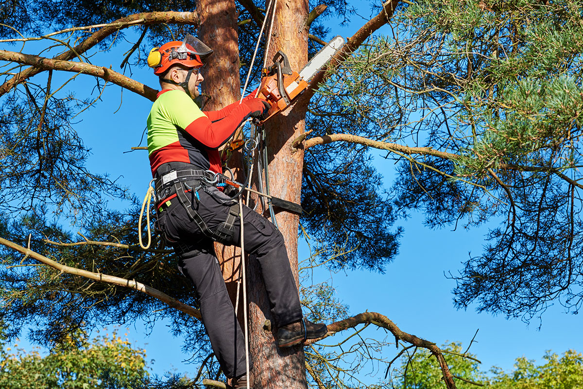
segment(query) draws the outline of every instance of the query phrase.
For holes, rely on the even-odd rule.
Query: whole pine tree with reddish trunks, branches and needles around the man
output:
[[[421,210],[431,227],[499,223],[490,226],[484,252],[454,274],[457,307],[477,303],[479,310],[525,321],[553,302],[577,312],[583,301],[581,6],[563,0],[370,1],[370,17],[359,23],[366,10],[350,13],[351,3],[362,2],[3,2],[0,197],[7,215],[0,241],[8,248],[0,294],[8,335],[34,323],[31,337],[47,344],[104,321],[164,318],[189,351],[201,350],[196,362],[205,374],[219,374],[191,283],[177,274],[175,255],[159,237],[148,251],[138,246],[137,201],[127,211],[104,201],[133,197],[120,182],[86,168],[89,150],[78,132],[83,115],[76,115],[99,110],[111,85],[125,88],[122,106],[127,91],[156,100],[158,90],[128,75],[145,64],[153,45],[194,29],[215,49],[206,58],[202,93],[210,100],[204,109],[220,111],[240,99],[244,73],[251,69],[258,82],[264,64],[250,65],[257,41],[258,58],[282,50],[291,68],[301,69],[328,38],[326,27],[339,32],[321,23],[325,17],[356,31],[296,104],[266,123],[268,155],[261,160],[273,195],[297,204],[303,199],[301,219],[276,215],[295,282],[298,230],[318,246],[305,268],[382,272],[403,233],[394,223]],[[169,4],[177,8],[164,8]],[[117,57],[108,50],[117,48],[124,74],[110,66]],[[101,51],[107,55],[100,57]],[[174,82],[187,73],[178,70]],[[96,85],[65,93],[87,75]],[[382,186],[370,148],[383,150],[394,167],[391,186]],[[73,223],[72,232],[64,220]],[[219,248],[222,265],[236,257],[228,250]],[[350,317],[325,285],[304,283],[299,291],[311,320],[330,323],[326,336],[370,325],[390,331],[390,339],[376,339],[378,347],[359,341],[366,352],[354,364],[346,362],[342,346],[330,351],[307,341],[303,349],[278,348],[276,327],[265,320],[269,299],[261,271],[252,261],[249,270],[255,286],[248,307],[251,354],[262,367],[255,369],[256,389],[361,386],[356,374],[371,360],[381,366],[379,385],[387,386],[384,369],[392,358],[377,360],[375,352],[389,344],[397,353],[409,346],[429,349],[445,384],[455,386],[435,344],[380,313],[364,312],[367,307]],[[232,273],[223,276],[236,282]]]

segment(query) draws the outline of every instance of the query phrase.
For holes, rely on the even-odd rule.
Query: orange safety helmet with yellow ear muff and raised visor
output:
[[[202,60],[212,54],[212,50],[198,38],[187,35],[184,41],[173,41],[154,47],[147,56],[147,65],[154,68],[155,75],[162,75],[174,64],[187,68],[199,68]]]

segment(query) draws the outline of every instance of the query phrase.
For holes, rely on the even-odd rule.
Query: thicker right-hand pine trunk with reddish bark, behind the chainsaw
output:
[[[299,70],[307,63],[308,34],[305,20],[307,0],[279,0],[272,31],[268,59],[278,50],[285,52],[291,67]],[[266,30],[268,26],[266,26]],[[268,62],[269,64],[269,62]],[[271,194],[299,204],[304,153],[291,147],[291,141],[304,132],[305,107],[293,107],[276,115],[266,125]],[[298,283],[297,231],[299,217],[281,212],[276,216],[286,241],[291,269]],[[248,261],[250,295],[250,344],[255,363],[254,388],[305,388],[304,352],[301,346],[278,349],[272,332],[264,330],[265,319],[271,320],[269,302],[257,262]]]

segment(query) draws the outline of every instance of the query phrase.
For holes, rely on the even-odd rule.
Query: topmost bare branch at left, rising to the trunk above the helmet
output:
[[[137,21],[139,21],[139,23]],[[73,47],[72,50],[62,52],[53,59],[68,61],[69,59],[78,57],[78,55],[100,43],[100,41],[104,40],[104,38],[116,33],[121,29],[135,26],[136,24],[147,26],[149,24],[159,23],[192,24],[197,26],[199,23],[198,12],[142,12],[127,17],[122,17],[113,23],[107,24],[106,27],[101,28],[99,31],[96,31],[94,34],[92,34],[92,36],[84,40],[82,43]],[[40,73],[43,70],[46,69],[31,67],[24,69],[22,72],[19,72],[16,76],[9,79],[0,86],[0,96],[2,96],[2,94],[8,93],[17,84],[23,82],[27,78],[30,78],[31,76]]]

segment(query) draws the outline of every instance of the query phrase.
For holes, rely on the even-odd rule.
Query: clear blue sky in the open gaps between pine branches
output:
[[[368,15],[367,10],[360,13]],[[346,27],[338,27],[331,21],[331,36],[340,34],[349,37],[363,22],[364,19],[358,16],[353,16]],[[380,33],[389,34],[390,31],[384,27]],[[94,59],[93,63],[108,66],[111,62],[113,68],[118,69],[121,58],[121,54],[117,57],[100,55],[99,60]],[[133,78],[157,88],[157,78],[149,69],[132,70]],[[63,78],[69,78],[69,75]],[[71,85],[83,96],[82,91],[92,82],[90,78],[83,80],[78,77]],[[57,85],[55,80],[53,85]],[[80,115],[82,121],[75,128],[86,145],[92,148],[88,162],[90,169],[107,172],[114,178],[120,177],[122,183],[143,198],[151,178],[147,152],[124,152],[138,145],[151,103],[124,91],[123,103],[118,110],[120,97],[119,87],[108,87],[101,96],[103,101]],[[384,160],[377,150],[371,150],[371,153],[377,156],[375,164],[384,174],[388,187],[394,165]],[[454,309],[451,290],[455,282],[445,278],[444,272],[455,273],[469,253],[479,254],[484,244],[484,233],[488,227],[494,227],[493,224],[473,230],[430,230],[423,225],[423,215],[413,214],[409,220],[399,220],[396,225],[405,227],[405,234],[401,239],[399,255],[388,265],[386,274],[350,271],[332,275],[338,296],[350,306],[351,314],[377,311],[389,317],[401,330],[437,344],[458,341],[463,342],[465,347],[479,329],[476,343],[470,351],[482,360],[483,370],[493,365],[511,369],[514,359],[519,356],[540,360],[549,349],[558,353],[567,349],[583,351],[580,317],[565,314],[560,306],[547,310],[540,331],[538,321],[526,325],[519,320],[477,314],[473,309]],[[305,247],[300,248],[300,260],[307,255]],[[321,272],[319,276],[327,279],[331,275]],[[121,330],[122,334],[124,332]],[[194,374],[195,366],[182,362],[189,355],[182,353],[180,339],[172,338],[164,323],[156,324],[147,337],[143,325],[138,323],[129,328],[129,338],[136,347],[147,350],[148,359],[154,360],[150,365],[153,372],[174,370],[176,373]]]

